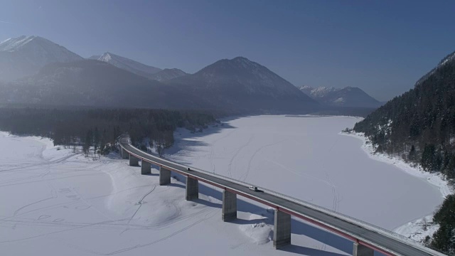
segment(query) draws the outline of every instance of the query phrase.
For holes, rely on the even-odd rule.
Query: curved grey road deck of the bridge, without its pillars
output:
[[[129,154],[136,156],[142,161],[147,161],[151,164],[156,164],[161,166],[164,169],[170,171],[175,171],[184,176],[190,178],[195,178],[198,181],[209,183],[218,188],[223,188],[237,195],[250,198],[254,201],[264,203],[267,206],[281,210],[284,213],[289,213],[294,215],[296,218],[301,218],[303,220],[309,221],[319,227],[329,230],[333,233],[358,242],[360,245],[365,245],[372,248],[378,252],[382,252],[385,255],[405,255],[405,256],[428,256],[428,255],[443,255],[440,252],[430,250],[427,247],[415,245],[412,242],[407,242],[405,240],[400,240],[399,238],[394,238],[392,235],[385,235],[380,232],[375,231],[373,226],[367,227],[361,223],[349,222],[338,218],[336,214],[323,213],[316,208],[310,208],[308,206],[303,206],[294,201],[289,201],[286,198],[282,198],[277,195],[273,195],[267,192],[259,191],[250,191],[250,189],[241,185],[241,181],[233,182],[229,179],[220,178],[207,174],[205,171],[198,171],[198,169],[193,169],[192,171],[187,171],[188,166],[183,166],[165,159],[161,159],[151,154],[146,154],[145,152],[135,148],[129,144],[128,137],[121,137],[119,139],[119,146],[126,150]]]

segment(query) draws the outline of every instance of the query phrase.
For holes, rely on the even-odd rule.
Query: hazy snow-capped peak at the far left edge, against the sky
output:
[[[68,63],[82,57],[39,36],[9,38],[0,43],[0,80],[33,75],[49,63]]]

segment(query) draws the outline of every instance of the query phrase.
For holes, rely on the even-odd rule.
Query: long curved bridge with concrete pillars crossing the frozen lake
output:
[[[200,169],[161,159],[132,146],[129,137],[118,140],[123,159],[129,159],[130,166],[139,166],[141,174],[151,173],[151,164],[159,166],[159,185],[171,183],[171,171],[186,176],[186,200],[198,198],[198,182],[208,183],[223,190],[222,220],[237,218],[237,196],[243,196],[274,208],[273,246],[276,249],[291,244],[291,216],[305,220],[331,233],[353,241],[354,256],[373,256],[375,251],[385,255],[428,256],[444,254],[424,247],[389,230],[385,230],[347,215],[314,204],[291,198],[266,188],[250,190],[252,184],[233,178],[212,174]]]

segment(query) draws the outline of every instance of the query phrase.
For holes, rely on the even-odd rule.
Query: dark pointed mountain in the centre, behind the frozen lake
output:
[[[193,75],[164,81],[210,105],[240,112],[301,112],[319,107],[287,80],[247,58],[224,59]]]

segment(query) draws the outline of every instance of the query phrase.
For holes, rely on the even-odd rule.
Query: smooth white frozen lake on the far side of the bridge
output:
[[[177,134],[168,157],[285,193],[392,230],[431,214],[439,188],[370,158],[339,134],[356,117],[257,116]]]

